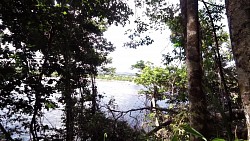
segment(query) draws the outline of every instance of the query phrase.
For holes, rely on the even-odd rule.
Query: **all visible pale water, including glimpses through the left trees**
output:
[[[134,84],[133,82],[97,80],[96,84],[98,93],[104,96],[101,99],[100,103],[103,111],[109,111],[106,109],[106,107],[108,106],[110,99],[115,99],[115,101],[113,102],[114,107],[111,108],[117,111],[127,111],[130,109],[136,109],[145,106],[145,96],[138,94],[138,91],[142,89],[142,87]],[[52,99],[55,99],[56,97],[60,97],[60,94],[55,94]],[[60,105],[59,107],[60,108],[49,111],[47,111],[46,109],[42,110],[42,112],[44,113],[44,117],[42,117],[40,121],[44,124],[49,125],[50,127],[61,127],[63,106]],[[2,111],[0,111],[0,113],[4,114]],[[118,113],[116,113],[116,116],[117,114]],[[110,116],[111,114],[108,115]],[[135,111],[127,113],[120,119],[128,121],[131,126],[140,126],[143,115],[143,111]],[[30,119],[31,117],[27,118]],[[1,122],[3,123],[5,122],[5,120],[2,120]],[[8,126],[10,125],[7,125],[7,127]],[[15,125],[12,124],[11,126]],[[23,134],[21,136],[15,134],[13,135],[13,137],[21,137],[24,141],[29,140],[29,134]]]

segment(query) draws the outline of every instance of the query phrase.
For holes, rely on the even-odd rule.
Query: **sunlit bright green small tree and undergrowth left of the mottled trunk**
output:
[[[154,129],[147,134],[155,135],[152,137],[159,140],[171,140],[177,135],[179,140],[187,139],[186,134],[180,132],[182,123],[187,121],[186,68],[172,65],[156,67],[143,61],[137,61],[132,67],[139,69],[134,82],[144,87],[140,92],[150,102],[149,108],[145,108],[150,110],[145,121],[146,126]]]

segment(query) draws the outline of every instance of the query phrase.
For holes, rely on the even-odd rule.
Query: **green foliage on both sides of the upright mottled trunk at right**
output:
[[[185,1],[180,0],[180,5],[169,4],[168,1],[137,1],[136,3],[139,7],[145,8],[145,15],[150,18],[150,23],[144,24],[143,30],[140,29],[138,32],[147,32],[147,30],[153,28],[154,30],[161,30],[158,27],[163,27],[166,25],[171,30],[170,40],[173,43],[173,53],[172,54],[165,54],[163,57],[165,58],[165,65],[166,68],[158,68],[158,67],[148,67],[143,64],[142,61],[137,62],[137,64],[133,65],[135,68],[140,68],[141,71],[138,75],[138,78],[135,79],[135,82],[142,84],[145,86],[146,90],[144,93],[146,95],[150,94],[151,99],[150,101],[153,102],[152,97],[154,94],[161,92],[165,92],[165,94],[171,90],[171,87],[168,87],[169,84],[175,86],[175,81],[171,79],[172,75],[175,77],[181,77],[181,80],[185,80],[183,75],[178,74],[179,67],[174,67],[175,73],[168,73],[169,67],[172,64],[180,64],[181,66],[186,66],[185,60],[187,59],[187,27],[186,27],[186,11],[185,9]],[[221,3],[216,3],[216,1],[201,1],[199,2],[199,48],[201,55],[198,58],[201,58],[201,63],[198,63],[202,67],[202,90],[206,95],[206,102],[199,103],[200,106],[207,103],[208,112],[206,113],[206,120],[207,125],[205,125],[205,133],[209,133],[206,135],[208,138],[214,137],[221,137],[226,138],[227,140],[232,140],[233,138],[246,138],[246,127],[244,123],[244,116],[242,112],[242,106],[240,102],[240,95],[239,89],[237,85],[236,73],[235,73],[235,66],[233,65],[233,57],[232,51],[230,49],[230,44],[228,41],[228,33],[225,30],[225,24],[223,21],[223,17],[225,14],[225,6]],[[157,26],[152,26],[156,24]],[[141,25],[141,24],[140,24]],[[190,30],[190,29],[189,29]],[[136,33],[135,33],[136,34]],[[193,52],[194,53],[194,52]],[[191,52],[192,54],[192,52]],[[189,56],[190,57],[190,56]],[[194,55],[193,55],[194,57]],[[191,56],[192,58],[192,56]],[[193,65],[193,64],[192,64]],[[196,65],[197,66],[197,65]],[[189,66],[190,67],[190,66]],[[171,67],[170,67],[171,68]],[[184,72],[186,72],[184,70]],[[190,73],[190,71],[189,71]],[[195,74],[187,74],[188,75],[195,75]],[[200,77],[200,76],[196,76]],[[190,77],[190,76],[189,76]],[[189,80],[190,81],[190,80]],[[185,98],[188,97],[188,89],[187,89],[187,81],[180,81],[178,80],[181,85],[176,85],[177,88],[186,88],[182,89],[183,93],[177,93],[178,97],[170,96],[167,100],[173,99],[170,103],[166,102],[166,105],[172,105],[177,103],[176,105],[179,106],[178,102],[183,100],[183,96]],[[183,82],[183,83],[181,83]],[[171,86],[171,85],[170,85]],[[192,84],[188,87],[198,87],[197,85]],[[181,91],[180,91],[181,92]],[[170,93],[171,94],[171,93]],[[190,97],[190,96],[189,96]],[[199,94],[194,97],[196,100],[199,101]],[[187,99],[185,99],[187,100]],[[200,99],[201,100],[201,99]],[[191,101],[188,100],[186,103],[186,109],[188,105],[194,105],[196,103],[190,103]],[[185,103],[185,102],[184,102]],[[185,105],[185,104],[184,104]],[[182,113],[184,107],[180,106],[177,109],[177,113]],[[198,105],[199,107],[199,105]],[[152,113],[156,113],[155,111],[151,111]],[[190,113],[188,110],[184,110],[184,113],[187,116],[181,115],[176,116],[171,114],[170,112],[164,113],[164,116],[169,116],[172,120],[184,120],[184,122],[179,122],[180,124],[189,123],[190,119],[199,119],[200,115],[194,115]],[[156,114],[153,114],[154,116]],[[236,116],[237,115],[237,116]],[[189,119],[189,120],[187,120]],[[161,129],[170,130],[170,134],[172,134],[172,138],[176,140],[182,140],[183,137],[185,138],[185,134],[183,132],[178,132],[173,134],[175,129],[170,124],[169,126],[161,126],[157,125],[155,119],[152,120],[155,123],[156,128],[160,127]],[[196,126],[203,126],[197,125]],[[158,126],[158,127],[157,127]],[[172,128],[171,128],[172,127]],[[183,131],[182,126],[178,126],[178,131]],[[158,131],[158,130],[153,130]],[[204,131],[204,130],[203,130]],[[155,132],[156,135],[163,134],[161,131]],[[188,132],[190,133],[190,132]],[[235,136],[233,136],[233,133]],[[242,134],[243,133],[243,134]],[[170,135],[168,134],[168,135]],[[184,136],[183,136],[184,135]],[[187,135],[187,134],[186,134]],[[192,134],[193,135],[193,134]],[[170,140],[171,137],[164,137],[158,136],[161,139]],[[193,140],[193,139],[191,139]],[[195,139],[196,140],[196,139]],[[198,139],[199,140],[199,139]]]

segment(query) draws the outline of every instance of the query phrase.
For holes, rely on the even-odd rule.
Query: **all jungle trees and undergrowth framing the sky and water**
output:
[[[134,4],[148,21],[129,21],[133,11],[123,0],[0,1],[1,140],[21,140],[24,134],[34,141],[250,139],[250,1]],[[107,116],[99,105],[96,78],[115,49],[103,33],[128,22],[136,27],[124,45],[135,49],[153,42],[147,31],[171,31],[173,51],[162,56],[164,67],[142,60],[132,65],[150,106],[109,109],[121,115],[147,111],[149,132]],[[40,122],[44,109],[60,105],[62,127]]]

